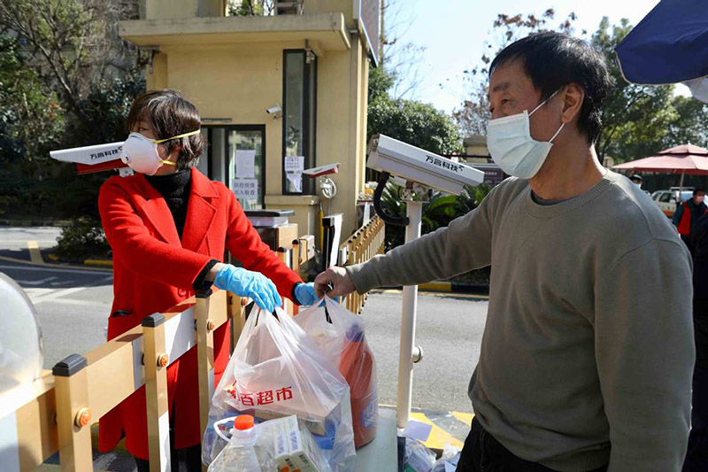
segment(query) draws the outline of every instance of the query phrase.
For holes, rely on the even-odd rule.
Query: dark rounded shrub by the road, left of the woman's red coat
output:
[[[111,246],[106,241],[101,223],[90,218],[78,218],[61,231],[55,253],[71,262],[84,259],[111,259]]]

